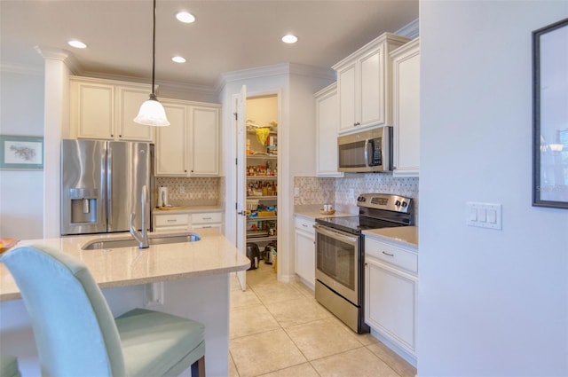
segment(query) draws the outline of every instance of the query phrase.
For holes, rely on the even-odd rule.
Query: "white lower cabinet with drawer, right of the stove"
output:
[[[418,255],[387,242],[365,239],[365,322],[416,357]]]

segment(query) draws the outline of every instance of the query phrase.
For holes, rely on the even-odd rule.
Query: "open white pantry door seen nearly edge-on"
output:
[[[237,248],[242,255],[246,254],[247,247],[247,190],[246,190],[246,176],[245,165],[247,163],[245,156],[245,147],[247,139],[247,130],[245,128],[247,116],[247,87],[242,86],[241,94],[234,97],[233,102],[233,120],[234,126],[237,129],[237,163],[235,165],[236,183],[237,183]],[[241,283],[241,289],[247,289],[247,271],[237,272],[237,278]]]

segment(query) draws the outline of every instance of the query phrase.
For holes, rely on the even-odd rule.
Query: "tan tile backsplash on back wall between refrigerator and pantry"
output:
[[[168,187],[168,200],[174,206],[222,205],[221,177],[155,177],[156,187]]]

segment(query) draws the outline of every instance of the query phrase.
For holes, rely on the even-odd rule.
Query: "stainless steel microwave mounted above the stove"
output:
[[[351,173],[392,169],[392,127],[383,126],[337,137],[338,170]]]

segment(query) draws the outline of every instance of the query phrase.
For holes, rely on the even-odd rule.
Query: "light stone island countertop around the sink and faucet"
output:
[[[186,233],[154,232],[149,234]],[[43,244],[75,255],[87,265],[101,289],[244,271],[250,266],[248,258],[241,255],[233,243],[217,230],[199,229],[196,233],[201,235],[201,240],[153,245],[144,249],[138,247],[81,249],[90,240],[130,238],[129,233],[21,240],[15,247]],[[0,263],[0,301],[16,299],[20,299],[20,290],[10,272],[3,263]]]

